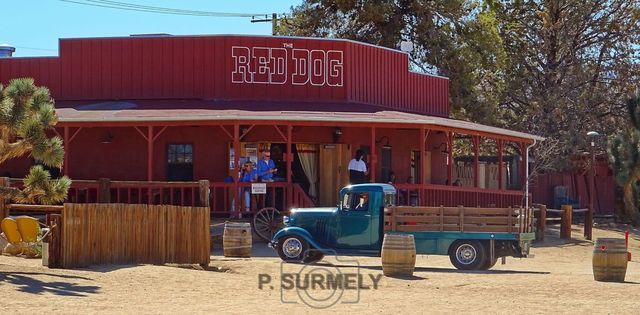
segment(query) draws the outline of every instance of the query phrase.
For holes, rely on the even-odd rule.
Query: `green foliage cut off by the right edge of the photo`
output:
[[[616,182],[624,191],[625,215],[638,223],[638,181],[640,181],[640,94],[627,101],[631,126],[616,136],[607,149]]]

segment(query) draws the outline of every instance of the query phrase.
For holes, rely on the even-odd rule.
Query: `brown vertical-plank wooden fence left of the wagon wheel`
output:
[[[62,268],[209,264],[208,207],[66,203],[61,221]]]

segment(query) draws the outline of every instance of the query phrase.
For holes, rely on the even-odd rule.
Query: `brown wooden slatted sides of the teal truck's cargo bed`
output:
[[[522,208],[389,207],[385,231],[530,233],[533,210]]]

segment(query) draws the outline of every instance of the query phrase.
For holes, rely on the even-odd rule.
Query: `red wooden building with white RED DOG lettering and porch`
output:
[[[519,205],[525,152],[542,139],[447,118],[447,78],[410,71],[406,53],[348,40],[61,39],[59,57],[0,59],[0,82],[18,77],[56,100],[71,201],[95,198],[95,180],[109,178],[128,181],[112,183],[112,201],[185,203],[193,189],[155,183],[159,192],[145,193],[147,181],[206,179],[212,210],[228,212],[247,185],[228,178],[269,150],[272,204],[334,205],[363,149],[370,181],[394,172],[401,202]],[[471,158],[455,156],[464,150]],[[22,177],[32,163],[12,160],[1,173]]]

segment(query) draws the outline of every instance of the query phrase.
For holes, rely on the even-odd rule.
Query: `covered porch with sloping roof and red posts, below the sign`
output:
[[[305,103],[270,111],[246,102],[245,108],[227,104],[234,109],[178,103],[167,107],[184,109],[158,101],[58,109],[56,132],[66,152],[60,173],[74,180],[68,200],[192,205],[197,181],[207,180],[212,212],[229,215],[244,206],[241,188],[251,185],[238,182],[238,166],[269,150],[278,166],[276,181],[266,183],[272,197],[252,198],[252,211],[334,206],[348,184],[347,164],[362,149],[369,181],[393,184],[398,204],[508,207],[524,204],[527,147],[541,140],[356,104],[341,104],[343,111],[319,111],[322,104],[304,111]],[[12,177],[24,176],[19,170],[31,163],[10,164]]]

